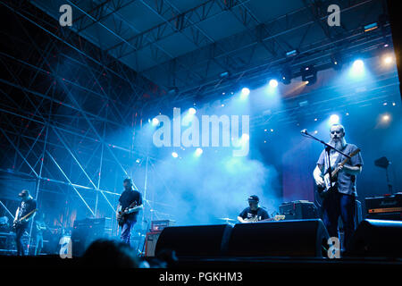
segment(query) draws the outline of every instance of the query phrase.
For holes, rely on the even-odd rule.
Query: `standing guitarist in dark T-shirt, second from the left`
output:
[[[124,179],[124,191],[119,198],[116,217],[121,221],[121,241],[130,245],[131,230],[137,223],[137,216],[142,206],[141,194],[133,188],[131,179]],[[135,205],[135,206],[133,206]],[[130,207],[131,206],[131,207]]]

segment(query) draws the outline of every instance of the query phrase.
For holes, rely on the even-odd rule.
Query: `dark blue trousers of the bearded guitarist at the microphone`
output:
[[[333,191],[322,202],[322,222],[330,237],[338,236],[338,218],[342,219],[344,228],[344,248],[348,248],[355,231],[356,197]]]

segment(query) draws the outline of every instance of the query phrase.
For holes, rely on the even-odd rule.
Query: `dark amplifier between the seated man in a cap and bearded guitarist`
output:
[[[280,214],[285,215],[285,220],[303,220],[318,218],[317,207],[307,200],[295,200],[282,203]]]

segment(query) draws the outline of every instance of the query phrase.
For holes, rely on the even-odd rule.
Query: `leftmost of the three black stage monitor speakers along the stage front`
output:
[[[228,247],[231,230],[229,224],[166,227],[155,255],[165,249],[174,250],[177,257],[219,257]]]

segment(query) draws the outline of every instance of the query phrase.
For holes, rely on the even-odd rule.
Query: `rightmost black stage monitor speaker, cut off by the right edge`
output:
[[[350,241],[351,257],[402,257],[402,222],[364,220]]]

